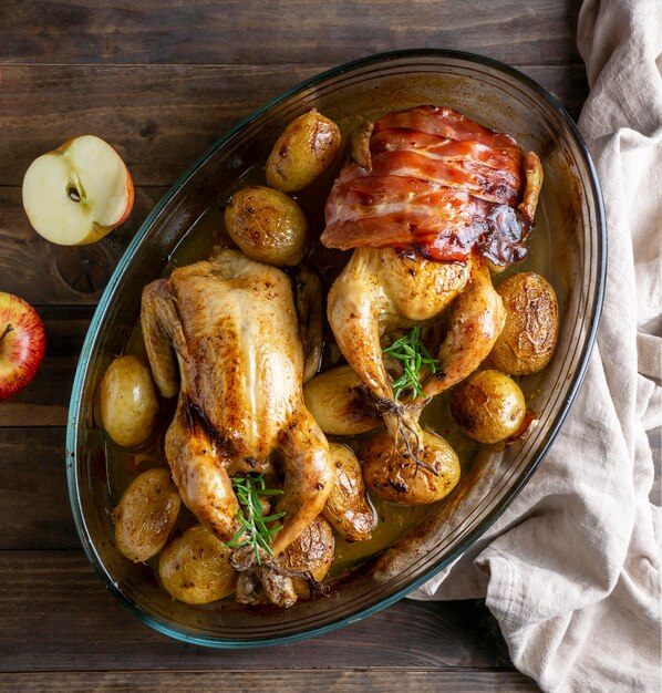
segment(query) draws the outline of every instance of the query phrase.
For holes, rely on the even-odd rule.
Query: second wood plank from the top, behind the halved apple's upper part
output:
[[[242,116],[331,64],[0,65],[0,185],[20,186],[37,156],[91,133],[117,149],[136,186],[169,186]],[[523,71],[578,115],[587,94],[582,65]]]

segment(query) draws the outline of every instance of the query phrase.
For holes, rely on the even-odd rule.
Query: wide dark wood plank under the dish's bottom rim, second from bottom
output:
[[[82,551],[0,551],[0,671],[507,666],[482,602],[402,600],[304,643],[214,650],[126,611]],[[489,617],[490,618],[490,617]]]

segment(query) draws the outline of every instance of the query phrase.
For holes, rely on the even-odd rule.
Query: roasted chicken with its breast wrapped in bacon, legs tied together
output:
[[[510,136],[452,108],[390,113],[358,132],[321,237],[328,247],[354,248],[330,290],[328,318],[389,433],[416,457],[421,407],[472,373],[503,329],[490,268],[525,257],[542,169]],[[442,316],[436,372],[423,395],[403,404],[384,364],[383,339]]]

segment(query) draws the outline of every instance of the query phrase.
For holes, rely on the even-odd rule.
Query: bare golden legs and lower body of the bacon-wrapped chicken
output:
[[[405,273],[408,293],[403,290]],[[505,310],[485,260],[438,263],[410,260],[392,249],[356,248],[329,292],[328,318],[340,350],[384,412],[389,433],[410,446],[422,438],[417,420],[426,399],[411,406],[396,402],[381,338],[394,328],[434,322],[449,304],[449,328],[436,354],[438,371],[423,383],[426,397],[476,370],[504,327]]]

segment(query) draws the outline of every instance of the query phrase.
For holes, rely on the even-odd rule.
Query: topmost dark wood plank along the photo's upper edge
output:
[[[578,60],[580,0],[3,0],[2,62],[333,63],[412,46],[514,64]]]

